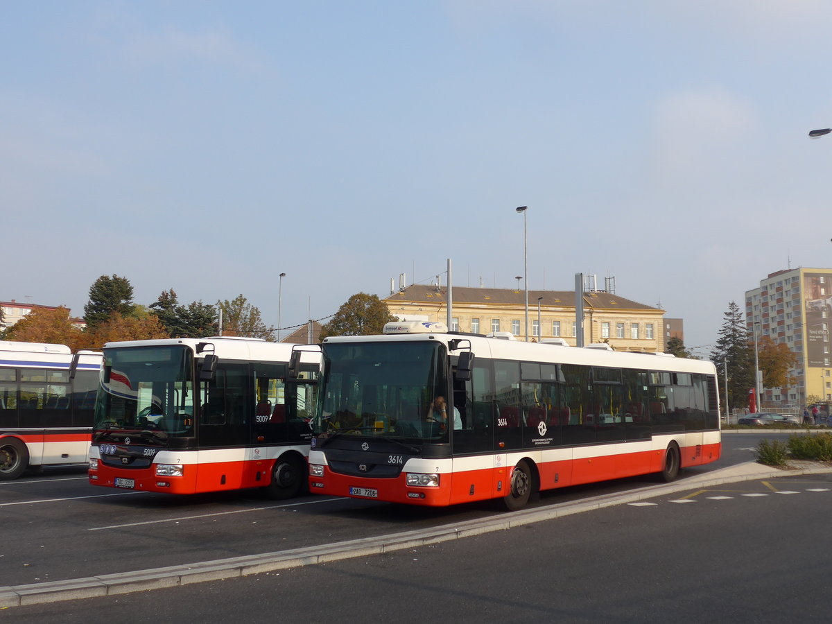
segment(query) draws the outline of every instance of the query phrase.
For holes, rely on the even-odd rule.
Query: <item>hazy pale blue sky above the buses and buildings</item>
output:
[[[245,295],[267,324],[390,278],[577,272],[685,319],[832,266],[832,3],[4,2],[0,299]],[[444,279],[443,279],[444,281]]]

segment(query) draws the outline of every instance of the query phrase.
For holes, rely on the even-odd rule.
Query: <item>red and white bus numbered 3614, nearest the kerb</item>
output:
[[[518,509],[540,490],[671,480],[720,457],[710,362],[441,323],[384,332],[321,345],[311,492],[432,506],[503,498]]]

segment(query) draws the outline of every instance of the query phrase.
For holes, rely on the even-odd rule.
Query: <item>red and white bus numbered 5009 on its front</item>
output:
[[[229,337],[105,344],[90,483],[300,493],[320,354],[300,354],[287,379],[291,354],[291,344]]]

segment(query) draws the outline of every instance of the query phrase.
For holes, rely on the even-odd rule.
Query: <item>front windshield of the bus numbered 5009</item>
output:
[[[181,344],[104,349],[96,432],[141,429],[160,442],[193,435],[192,370]]]

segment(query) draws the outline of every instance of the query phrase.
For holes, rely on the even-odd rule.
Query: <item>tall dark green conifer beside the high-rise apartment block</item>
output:
[[[725,321],[719,331],[716,349],[711,352],[711,362],[716,364],[722,379],[720,388],[728,379],[728,396],[724,398],[730,409],[744,408],[748,391],[754,388],[754,351],[748,344],[748,332],[740,306],[731,301],[725,313]]]

